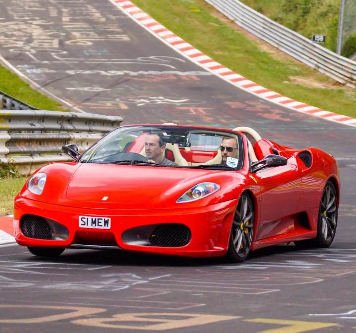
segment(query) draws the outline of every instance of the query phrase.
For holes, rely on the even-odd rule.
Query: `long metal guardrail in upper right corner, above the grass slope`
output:
[[[236,24],[334,80],[356,88],[356,62],[312,43],[238,0],[205,0]]]

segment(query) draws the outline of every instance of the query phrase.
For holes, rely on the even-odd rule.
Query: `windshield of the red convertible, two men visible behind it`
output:
[[[241,147],[241,136],[228,130],[123,126],[95,143],[78,162],[239,170]]]

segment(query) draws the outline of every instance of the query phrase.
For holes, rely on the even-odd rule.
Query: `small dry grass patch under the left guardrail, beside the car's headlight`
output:
[[[25,184],[26,177],[0,178],[0,216],[13,214],[13,200]]]

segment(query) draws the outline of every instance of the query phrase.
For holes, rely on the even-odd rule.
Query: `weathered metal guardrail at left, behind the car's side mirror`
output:
[[[28,175],[46,163],[71,160],[61,153],[63,145],[75,143],[83,152],[122,121],[92,113],[0,110],[0,161]]]

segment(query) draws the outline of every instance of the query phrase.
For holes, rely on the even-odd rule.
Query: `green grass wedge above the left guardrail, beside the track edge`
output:
[[[29,84],[23,82],[17,75],[0,66],[0,91],[41,110],[69,111],[60,103],[33,90]]]

